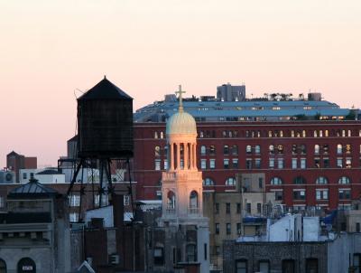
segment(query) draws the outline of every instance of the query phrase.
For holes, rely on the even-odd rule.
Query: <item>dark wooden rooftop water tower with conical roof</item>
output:
[[[77,100],[79,164],[75,167],[68,194],[80,169],[87,167],[89,162],[97,162],[101,206],[102,194],[113,193],[110,165],[117,160],[125,161],[130,171],[129,159],[134,153],[133,99],[104,77]],[[106,180],[107,190],[104,190],[103,180]]]

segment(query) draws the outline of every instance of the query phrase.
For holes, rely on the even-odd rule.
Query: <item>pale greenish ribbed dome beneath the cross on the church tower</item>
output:
[[[179,111],[168,119],[166,134],[197,135],[196,120],[190,114]]]

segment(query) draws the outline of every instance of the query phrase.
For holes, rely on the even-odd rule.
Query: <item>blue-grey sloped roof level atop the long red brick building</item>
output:
[[[303,96],[293,99],[290,94],[279,93],[256,99],[222,99],[219,96],[217,99],[211,96],[193,96],[184,99],[182,107],[196,121],[202,122],[343,120],[358,118],[359,114],[358,110],[340,108],[336,103],[322,100],[319,93],[310,93],[309,99],[304,99]],[[173,99],[173,95],[165,95],[164,100],[136,110],[134,122],[165,122],[176,113],[178,107],[179,103]]]

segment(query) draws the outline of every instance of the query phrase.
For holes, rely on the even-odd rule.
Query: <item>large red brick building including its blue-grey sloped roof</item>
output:
[[[163,121],[176,105],[174,99],[164,100],[135,114],[139,199],[160,198],[161,173],[168,165]],[[186,100],[184,108],[197,120],[204,191],[235,192],[236,174],[256,173],[264,174],[266,191],[275,192],[287,207],[332,210],[360,199],[361,123],[356,111],[347,117],[352,110],[324,100],[193,99]],[[249,117],[233,117],[235,108],[245,109],[238,116]],[[217,109],[217,115],[212,114]]]

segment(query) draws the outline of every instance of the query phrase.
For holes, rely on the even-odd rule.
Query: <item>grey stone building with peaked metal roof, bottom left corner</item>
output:
[[[68,204],[32,180],[14,188],[0,213],[2,272],[69,272]]]

